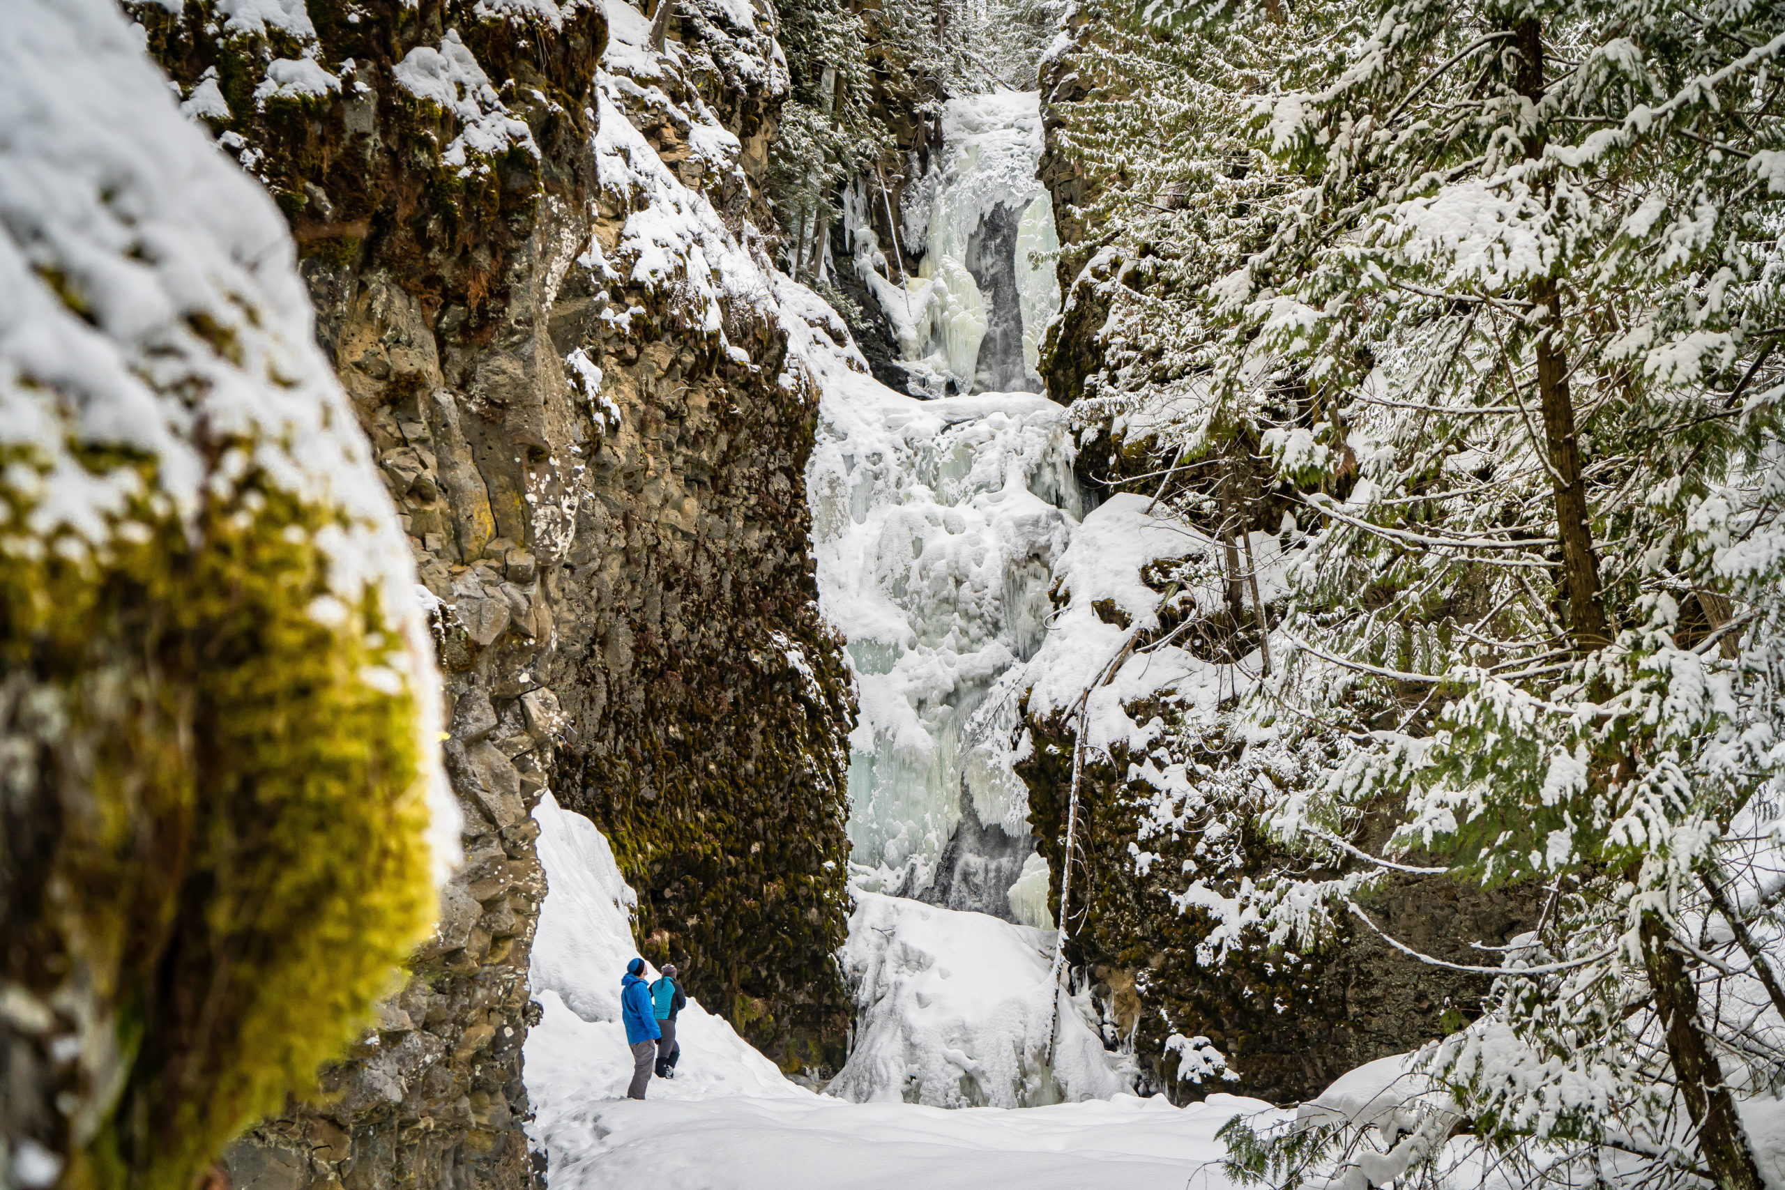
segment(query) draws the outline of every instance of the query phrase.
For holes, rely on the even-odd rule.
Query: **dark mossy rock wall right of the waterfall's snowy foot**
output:
[[[1185,717],[1169,696],[1130,707],[1128,714],[1142,723],[1157,714],[1173,726]],[[1059,719],[1030,717],[1028,728],[1035,749],[1017,773],[1030,790],[1037,849],[1057,872],[1073,731]],[[1239,751],[1237,740],[1216,735],[1201,746],[1214,749],[1200,756],[1205,764]],[[1428,967],[1355,922],[1339,922],[1323,946],[1307,951],[1273,947],[1255,931],[1216,962],[1208,951],[1216,919],[1175,899],[1191,881],[1187,872],[1207,878],[1210,853],[1226,856],[1214,883],[1230,888],[1283,869],[1308,880],[1321,872],[1273,844],[1244,806],[1219,803],[1214,790],[1217,805],[1205,806],[1183,830],[1160,835],[1151,814],[1155,790],[1130,774],[1162,756],[1123,746],[1114,756],[1089,753],[1078,806],[1083,864],[1075,876],[1067,944],[1078,978],[1096,990],[1114,1035],[1132,1044],[1155,1088],[1175,1103],[1210,1092],[1294,1103],[1346,1070],[1416,1049],[1480,1013],[1485,978]],[[1055,906],[1059,892],[1055,878]],[[1448,878],[1405,874],[1360,903],[1396,938],[1455,963],[1480,962],[1467,940],[1505,942],[1524,930],[1533,910],[1526,890],[1482,892]],[[1166,1045],[1173,1035],[1208,1038],[1237,1078],[1201,1070],[1192,1076],[1182,1053]]]

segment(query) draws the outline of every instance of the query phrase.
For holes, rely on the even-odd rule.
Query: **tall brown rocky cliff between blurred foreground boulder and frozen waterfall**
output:
[[[266,12],[134,9],[298,236],[439,601],[468,828],[378,1028],[228,1169],[268,1190],[512,1188],[532,1179],[546,785],[614,840],[646,954],[709,1006],[789,1065],[846,1028],[826,956],[851,708],[798,489],[816,401],[771,303],[718,259],[751,260],[748,178],[785,84],[766,29],[718,5],[680,4],[662,54],[639,12],[616,4],[610,30],[593,0]]]

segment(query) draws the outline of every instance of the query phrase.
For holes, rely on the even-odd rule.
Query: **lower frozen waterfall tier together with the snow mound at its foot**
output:
[[[819,382],[818,591],[860,696],[841,954],[857,1015],[830,1094],[1035,1106],[1130,1090],[1105,1004],[1055,994],[1048,867],[1014,769],[1019,699],[1060,649],[1050,591],[1098,516],[1069,414],[1032,393],[894,393],[816,294],[782,277],[776,298]]]

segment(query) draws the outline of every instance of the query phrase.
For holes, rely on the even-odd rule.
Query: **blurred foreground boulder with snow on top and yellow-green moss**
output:
[[[0,41],[7,1179],[186,1190],[457,855],[414,569],[278,211],[105,0]]]

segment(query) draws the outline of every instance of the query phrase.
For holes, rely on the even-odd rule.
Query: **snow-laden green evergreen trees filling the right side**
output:
[[[1217,87],[1233,114],[1201,139],[1250,128],[1244,169],[1125,219],[1132,244],[1185,228],[1151,239],[1182,280],[1119,296],[1094,385],[1166,426],[1164,462],[1266,473],[1305,530],[1250,764],[1330,753],[1248,810],[1357,867],[1255,888],[1258,921],[1367,922],[1353,894],[1392,864],[1535,885],[1535,928],[1482,956],[1487,1015],[1426,1056],[1455,1111],[1532,1161],[1501,1172],[1635,1153],[1758,1186],[1744,1113],[1785,1069],[1785,12],[1150,16],[1203,77],[1269,84],[1244,111]],[[1307,48],[1273,70],[1274,29]],[[1237,173],[1260,193],[1225,193]],[[1357,846],[1366,812],[1392,814],[1389,855]]]

